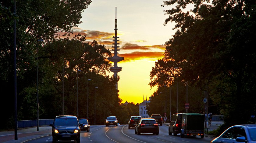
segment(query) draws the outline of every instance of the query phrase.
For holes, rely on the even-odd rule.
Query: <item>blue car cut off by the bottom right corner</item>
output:
[[[256,143],[256,124],[235,125],[229,127],[219,137],[211,141],[211,143],[216,142]]]

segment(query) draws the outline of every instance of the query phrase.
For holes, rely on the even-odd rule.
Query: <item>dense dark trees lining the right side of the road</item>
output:
[[[176,32],[152,68],[150,85],[170,86],[179,76],[183,85],[201,89],[193,104],[208,93],[208,106],[218,107],[227,127],[249,123],[256,111],[256,1],[169,0],[162,6],[173,7],[165,10],[164,24],[175,22]]]

